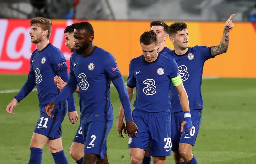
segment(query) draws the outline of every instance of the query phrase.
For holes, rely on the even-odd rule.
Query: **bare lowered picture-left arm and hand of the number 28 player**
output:
[[[132,97],[133,97],[134,88],[130,88],[129,86],[126,86],[126,90],[128,92],[129,100],[131,102],[132,101]],[[122,133],[123,129],[124,129],[124,133],[127,134],[127,132],[126,132],[126,125],[124,123],[124,107],[121,104],[119,115],[118,115],[118,119],[117,119],[117,130],[119,132],[119,135],[124,138],[124,135]]]

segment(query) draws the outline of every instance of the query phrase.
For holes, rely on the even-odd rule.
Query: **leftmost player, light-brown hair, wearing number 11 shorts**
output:
[[[54,85],[52,78],[55,75],[68,80],[68,67],[64,55],[60,50],[49,43],[52,29],[52,22],[47,18],[36,17],[30,20],[31,30],[29,31],[31,42],[36,44],[37,49],[32,52],[30,58],[30,72],[28,79],[20,92],[9,103],[6,111],[14,114],[13,109],[17,103],[25,98],[36,86],[38,90],[40,119],[32,135],[30,143],[29,164],[42,163],[42,149],[47,143],[55,163],[67,164],[68,160],[62,148],[62,127],[61,123],[67,112],[66,101],[58,103],[52,111],[54,119],[46,115],[44,108],[55,98],[60,90]],[[75,108],[74,95],[70,94],[68,99],[69,119],[75,123],[78,115]]]

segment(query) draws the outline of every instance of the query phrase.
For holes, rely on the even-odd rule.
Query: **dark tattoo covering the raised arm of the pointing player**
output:
[[[229,34],[228,33],[224,33],[225,37],[222,38],[220,45],[218,46],[213,46],[211,48],[211,55],[216,56],[216,55],[220,55],[223,53],[226,53],[228,50],[228,44],[229,44]],[[224,39],[224,40],[223,40]]]

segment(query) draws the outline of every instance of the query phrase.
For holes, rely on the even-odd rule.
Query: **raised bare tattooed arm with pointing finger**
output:
[[[222,39],[220,41],[220,45],[211,47],[211,56],[214,57],[216,55],[220,55],[226,53],[228,51],[228,44],[229,44],[229,32],[234,27],[233,21],[231,20],[235,14],[232,14],[225,23],[223,29]]]

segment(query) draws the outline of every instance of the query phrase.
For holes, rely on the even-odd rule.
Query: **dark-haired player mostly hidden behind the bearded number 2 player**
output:
[[[71,24],[69,26],[67,26],[64,30],[65,33],[65,45],[69,48],[70,52],[73,52],[75,50],[75,42],[74,42],[74,29],[75,26],[78,23],[74,23]],[[64,82],[63,80],[61,80],[61,77],[59,76],[55,76],[54,77],[54,84],[57,85],[57,87],[62,90],[63,87],[67,84],[66,82]],[[76,91],[78,93],[78,98],[79,98],[79,105],[80,105],[80,113],[81,113],[81,108],[82,108],[82,104],[80,101],[80,94],[79,94],[79,87],[77,86]],[[81,122],[80,125],[76,131],[76,135],[74,137],[73,143],[70,147],[70,155],[71,157],[76,161],[76,163],[78,164],[82,164],[83,163],[83,155],[84,155],[84,139],[82,136],[82,126],[81,126]],[[102,161],[102,159],[98,159],[97,161],[98,163],[104,163],[104,164],[108,164],[108,157],[107,154],[105,154],[104,156],[104,161]]]

